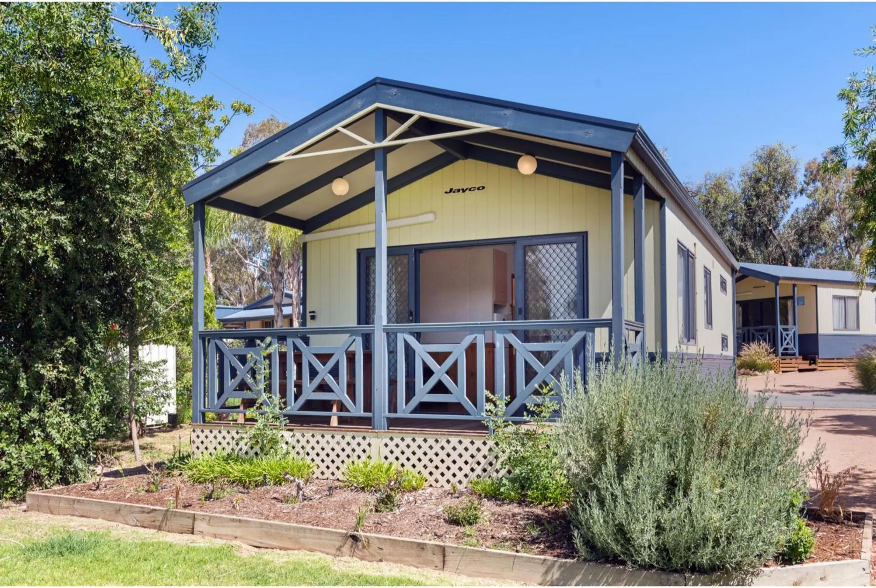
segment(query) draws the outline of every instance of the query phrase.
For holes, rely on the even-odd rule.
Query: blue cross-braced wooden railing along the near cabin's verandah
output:
[[[242,413],[251,408],[229,401],[264,391],[282,395],[286,416],[369,418],[377,406],[387,419],[483,420],[491,391],[507,402],[506,414],[525,420],[526,403],[541,402],[546,387],[559,397],[563,381],[586,377],[607,353],[611,319],[400,324],[384,332],[393,348],[380,374],[371,365],[371,325],[202,331],[205,397],[193,408]],[[424,342],[441,333],[459,342]],[[625,322],[633,363],[644,356],[643,333]],[[381,375],[388,394],[378,398],[371,382]]]

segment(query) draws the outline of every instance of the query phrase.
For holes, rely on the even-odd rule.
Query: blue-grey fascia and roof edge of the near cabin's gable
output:
[[[292,151],[308,140],[330,130],[339,123],[369,109],[374,104],[385,104],[399,109],[410,109],[447,116],[470,123],[480,123],[531,137],[542,137],[558,142],[583,145],[604,151],[625,153],[632,147],[639,154],[656,179],[666,187],[682,210],[690,216],[697,228],[717,248],[724,260],[734,269],[738,262],[702,211],[690,198],[687,189],[669,168],[666,160],[647,137],[639,124],[625,123],[597,116],[586,116],[557,109],[546,109],[530,104],[497,100],[441,88],[431,88],[406,81],[374,78],[362,86],[330,102],[314,113],[290,124],[236,157],[217,165],[182,187],[188,205],[214,200],[234,186],[271,169],[271,161]],[[549,162],[546,162],[546,167]],[[341,174],[343,175],[343,174]],[[300,228],[315,230],[313,221],[293,219],[283,214],[261,216],[258,209],[234,201],[223,202],[226,209],[238,214],[264,218]]]

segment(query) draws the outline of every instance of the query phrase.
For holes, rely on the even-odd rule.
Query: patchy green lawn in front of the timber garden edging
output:
[[[0,584],[451,585],[468,577],[0,507]],[[21,543],[19,545],[18,543]],[[23,547],[22,547],[23,545]]]

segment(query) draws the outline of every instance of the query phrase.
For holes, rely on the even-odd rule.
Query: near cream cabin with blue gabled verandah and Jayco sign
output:
[[[264,388],[293,423],[470,429],[610,353],[733,364],[738,263],[637,124],[377,79],[183,193],[195,423]],[[303,325],[204,329],[205,206],[302,231]]]

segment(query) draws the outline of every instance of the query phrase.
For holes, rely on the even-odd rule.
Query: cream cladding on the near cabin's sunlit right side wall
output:
[[[703,233],[694,226],[688,215],[674,199],[667,199],[667,315],[668,315],[668,351],[670,353],[704,353],[708,356],[731,358],[734,355],[732,345],[727,351],[721,349],[721,335],[727,335],[733,340],[733,314],[736,312],[733,304],[733,293],[730,287],[732,279],[731,266],[718,255],[717,248],[712,245]],[[682,343],[679,332],[679,308],[677,295],[678,262],[676,252],[682,244],[696,257],[694,271],[694,286],[696,290],[696,340],[692,344]],[[703,294],[703,268],[708,268],[712,276],[712,327],[705,326],[705,297]],[[721,277],[728,282],[727,293],[721,292],[718,284]]]

